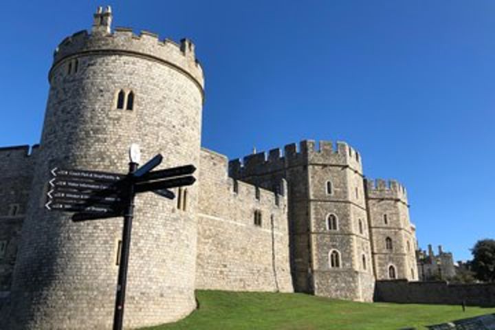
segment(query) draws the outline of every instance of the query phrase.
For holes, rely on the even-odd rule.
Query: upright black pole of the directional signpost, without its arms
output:
[[[137,163],[129,163],[129,178],[137,169]],[[124,320],[124,302],[127,282],[127,265],[129,263],[129,247],[131,243],[131,229],[134,217],[134,184],[129,181],[128,201],[124,209],[124,228],[122,230],[122,249],[120,250],[119,274],[117,283],[117,295],[115,297],[115,310],[113,313],[113,330],[122,330]]]

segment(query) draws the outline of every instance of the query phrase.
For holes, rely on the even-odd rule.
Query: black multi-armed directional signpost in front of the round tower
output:
[[[47,192],[47,210],[76,212],[72,221],[124,217],[122,230],[122,249],[115,296],[113,329],[121,330],[124,319],[127,267],[131,243],[132,221],[134,216],[134,198],[140,192],[155,192],[168,199],[175,194],[168,188],[190,186],[195,177],[191,174],[193,165],[155,170],[162,162],[162,155],[156,155],[138,168],[139,149],[131,146],[129,173],[107,173],[91,170],[54,168],[50,171],[50,190]]]

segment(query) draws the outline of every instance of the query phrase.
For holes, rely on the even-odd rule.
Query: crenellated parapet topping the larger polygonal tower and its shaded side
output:
[[[360,153],[349,144],[337,142],[334,145],[330,141],[320,141],[317,146],[314,140],[287,144],[283,153],[281,148],[274,148],[268,153],[262,151],[243,159],[232,159],[229,162],[229,173],[233,177],[246,177],[306,164],[349,166],[362,173]]]

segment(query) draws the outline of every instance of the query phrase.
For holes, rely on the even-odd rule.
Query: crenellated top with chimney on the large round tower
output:
[[[110,17],[110,19],[108,19]],[[159,39],[153,32],[134,34],[131,28],[115,28],[111,32],[111,9],[98,8],[91,33],[86,30],[65,38],[56,47],[51,72],[69,57],[84,54],[116,53],[150,58],[170,65],[188,74],[201,89],[204,87],[203,69],[195,56],[195,45],[190,39],[180,43],[170,39]]]

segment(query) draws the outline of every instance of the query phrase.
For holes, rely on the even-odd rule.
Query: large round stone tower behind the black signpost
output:
[[[203,72],[194,45],[116,28],[111,9],[91,33],[67,37],[50,69],[41,147],[14,270],[8,329],[109,329],[113,321],[122,218],[73,222],[43,207],[50,169],[126,173],[128,148],[160,168],[199,167]],[[195,308],[197,188],[180,209],[136,198],[125,327],[170,322]]]

